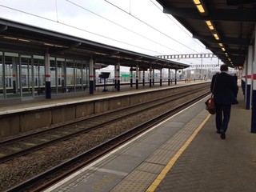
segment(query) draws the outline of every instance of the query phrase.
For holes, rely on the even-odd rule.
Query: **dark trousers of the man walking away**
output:
[[[217,130],[223,130],[226,132],[230,122],[231,105],[216,104],[216,128]],[[223,114],[223,118],[222,118]]]

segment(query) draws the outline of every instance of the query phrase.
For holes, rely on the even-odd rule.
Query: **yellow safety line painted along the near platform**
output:
[[[190,138],[185,142],[185,144],[178,150],[178,152],[174,155],[173,158],[170,159],[170,162],[166,165],[166,167],[162,170],[162,172],[158,175],[156,179],[154,179],[154,182],[149,186],[149,188],[146,190],[146,192],[154,192],[154,190],[157,189],[160,182],[162,182],[162,179],[166,177],[166,174],[169,172],[172,166],[174,166],[174,163],[177,161],[177,159],[182,155],[184,150],[186,150],[186,147],[190,145],[190,142],[193,141],[195,136],[198,134],[199,130],[202,129],[202,126],[206,124],[208,119],[210,118],[210,114],[206,117],[206,119],[198,126],[196,130],[194,130],[194,133],[190,136]]]

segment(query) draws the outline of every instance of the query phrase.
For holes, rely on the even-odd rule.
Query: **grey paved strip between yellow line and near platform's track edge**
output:
[[[203,102],[152,127],[46,191],[146,191],[208,116]]]

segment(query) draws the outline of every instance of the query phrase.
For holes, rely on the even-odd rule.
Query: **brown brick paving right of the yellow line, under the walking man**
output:
[[[256,134],[250,133],[251,110],[241,89],[238,102],[226,139],[216,133],[211,115],[154,191],[256,191]]]

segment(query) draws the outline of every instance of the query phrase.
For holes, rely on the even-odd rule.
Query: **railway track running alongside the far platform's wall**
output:
[[[74,138],[79,134],[90,132],[105,126],[110,122],[120,120],[121,118],[129,118],[131,115],[143,113],[154,107],[166,105],[168,102],[174,102],[178,98],[198,93],[205,88],[199,88],[191,92],[177,93],[172,96],[161,98],[158,100],[142,103],[136,106],[126,107],[120,110],[114,110],[107,114],[100,114],[92,118],[80,119],[79,121],[69,122],[66,126],[55,126],[50,130],[38,131],[34,134],[27,134],[19,138],[0,142],[0,163],[10,161],[18,156],[29,154],[43,147],[53,145],[69,138]]]

